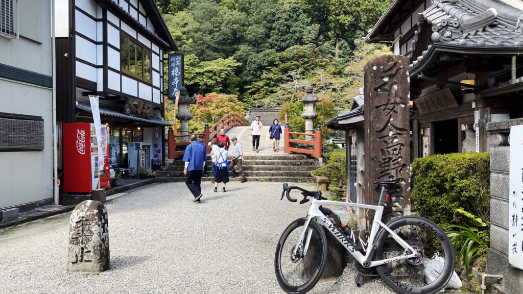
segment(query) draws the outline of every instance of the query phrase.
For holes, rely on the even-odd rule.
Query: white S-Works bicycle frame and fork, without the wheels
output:
[[[373,250],[370,250],[371,247],[369,246],[369,250],[367,250],[365,255],[361,254],[358,250],[356,250],[356,248],[354,248],[354,246],[351,245],[350,242],[345,238],[345,234],[342,233],[340,230],[338,230],[338,228],[332,223],[332,221],[327,216],[325,216],[325,214],[323,214],[321,212],[320,206],[325,206],[325,205],[365,208],[365,209],[371,209],[371,210],[376,211],[376,213],[374,214],[374,220],[372,222],[372,229],[370,231],[369,244],[374,245],[374,240],[376,239],[376,235],[378,234],[378,231],[381,227],[381,228],[385,229],[386,231],[388,231],[391,234],[392,238],[394,240],[396,240],[401,246],[403,246],[403,248],[409,250],[412,253],[403,254],[400,256],[392,257],[392,258],[382,259],[380,261],[371,261],[370,260],[372,258],[371,253],[373,253]],[[414,250],[414,248],[411,247],[410,245],[408,245],[403,239],[400,238],[400,236],[398,236],[391,229],[389,229],[389,227],[387,227],[386,224],[381,222],[382,214],[383,214],[383,206],[312,199],[311,207],[309,208],[309,213],[307,214],[305,224],[303,225],[303,229],[298,238],[298,242],[297,242],[296,246],[294,247],[294,250],[292,253],[296,254],[298,245],[300,244],[300,242],[302,242],[303,236],[305,235],[305,230],[309,229],[309,223],[310,223],[311,219],[316,218],[318,223],[320,223],[325,228],[327,228],[327,230],[329,232],[331,232],[331,234],[334,236],[334,238],[336,238],[338,240],[338,242],[343,244],[345,246],[345,249],[351,255],[353,255],[354,258],[356,258],[356,260],[364,267],[374,267],[374,266],[379,266],[379,265],[387,264],[387,263],[394,262],[394,261],[401,261],[403,259],[416,257],[417,256],[416,250]],[[312,229],[309,229],[309,230],[312,230]],[[311,234],[308,234],[308,238],[305,242],[305,246],[304,246],[304,250],[303,250],[304,256],[307,254],[310,239],[311,239]]]

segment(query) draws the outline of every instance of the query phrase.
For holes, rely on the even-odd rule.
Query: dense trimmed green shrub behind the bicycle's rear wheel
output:
[[[466,225],[460,209],[490,224],[490,153],[438,154],[412,163],[412,210],[449,230]],[[485,228],[488,230],[488,227]]]

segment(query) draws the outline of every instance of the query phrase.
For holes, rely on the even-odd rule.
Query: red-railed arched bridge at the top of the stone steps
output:
[[[234,127],[243,127],[238,128],[240,130],[232,130]],[[246,132],[246,129],[248,127],[245,126],[243,117],[237,115],[237,114],[230,114],[224,116],[222,119],[220,119],[218,122],[216,122],[211,128],[209,128],[209,125],[205,126],[205,129],[202,133],[194,133],[194,135],[203,135],[203,141],[204,142],[215,142],[216,136],[220,133],[220,131],[224,129],[225,133],[229,135],[230,138],[237,137],[238,141],[242,143],[243,151],[244,153],[249,153],[249,140],[250,132]],[[267,139],[265,137],[268,137],[268,129],[269,126],[266,126],[265,130],[262,132],[261,139]],[[267,132],[267,136],[265,136],[265,132]],[[245,134],[247,133],[247,134]],[[168,159],[176,159],[178,157],[181,157],[185,153],[185,146],[189,145],[189,136],[193,134],[181,134],[181,135],[175,135],[173,132],[172,127],[169,127],[169,131],[167,133],[167,141],[168,141]],[[232,135],[232,137],[231,137]],[[295,136],[306,136],[306,137],[312,137],[312,140],[300,140],[300,139],[294,139]],[[248,137],[243,138],[242,137]],[[185,138],[185,140],[180,140],[178,138]],[[268,139],[267,139],[268,140]],[[282,141],[282,142],[281,142]],[[295,144],[301,144],[305,146],[305,148],[298,148],[295,147]],[[269,143],[268,143],[269,144]],[[285,124],[285,127],[283,128],[283,134],[282,138],[280,140],[280,148],[281,145],[283,146],[283,150],[285,153],[304,153],[309,154],[312,157],[320,158],[322,157],[322,132],[321,129],[318,127],[316,128],[315,133],[301,133],[301,132],[291,132],[288,123]],[[308,147],[308,148],[307,148]],[[207,153],[210,152],[210,149],[207,149]],[[275,154],[276,155],[276,154]]]

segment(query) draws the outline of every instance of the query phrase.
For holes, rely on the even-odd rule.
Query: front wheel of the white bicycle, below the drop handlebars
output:
[[[287,293],[306,293],[320,280],[327,259],[327,239],[321,226],[312,219],[298,242],[305,219],[293,221],[280,237],[274,268],[281,288]],[[305,251],[305,244],[309,246]],[[294,253],[294,248],[297,250]]]

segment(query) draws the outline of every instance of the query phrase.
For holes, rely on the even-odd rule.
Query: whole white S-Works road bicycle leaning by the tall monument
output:
[[[388,189],[398,182],[399,179],[374,182],[382,187],[377,206],[330,201],[321,196],[321,191],[283,184],[281,199],[286,195],[289,201],[296,202],[289,196],[293,189],[300,190],[304,196],[300,204],[308,202],[307,197],[314,199],[307,217],[289,224],[276,247],[274,266],[281,288],[287,293],[306,293],[320,280],[327,259],[327,239],[322,225],[354,257],[359,273],[370,274],[376,270],[386,285],[404,294],[432,294],[444,288],[456,264],[447,234],[434,222],[418,216],[395,218],[387,224],[381,222],[383,208],[389,200]],[[322,207],[328,205],[376,211],[366,252],[328,216],[331,211]],[[440,265],[436,270],[433,267],[427,276],[426,263],[434,258]]]

